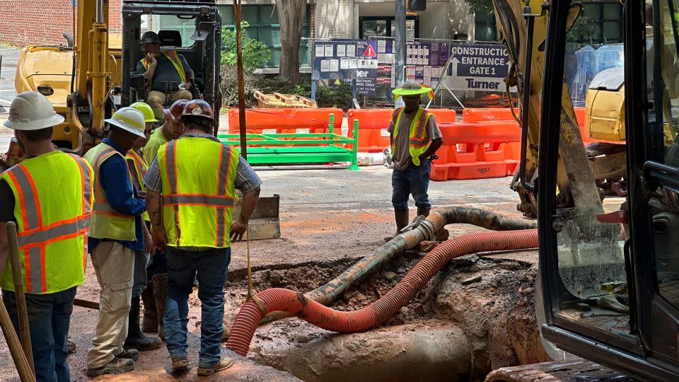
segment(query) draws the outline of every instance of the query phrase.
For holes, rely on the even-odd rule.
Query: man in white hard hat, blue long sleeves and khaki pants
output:
[[[87,376],[134,369],[137,349],[124,349],[134,282],[134,257],[150,253],[153,243],[141,214],[146,201],[134,189],[125,154],[144,137],[144,115],[121,108],[108,122],[108,138],[85,154],[94,169],[94,207],[88,247],[101,287],[96,337],[87,354]]]

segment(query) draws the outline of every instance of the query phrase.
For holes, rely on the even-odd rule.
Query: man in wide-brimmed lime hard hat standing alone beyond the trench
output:
[[[393,155],[394,170],[391,175],[393,188],[391,202],[394,206],[396,232],[388,236],[390,241],[398,236],[408,225],[408,198],[412,195],[417,207],[417,215],[429,215],[429,172],[431,156],[443,144],[441,130],[436,125],[434,115],[419,104],[422,96],[433,97],[431,88],[415,81],[407,81],[402,87],[393,90],[394,95],[402,97],[405,107],[394,110],[389,122],[389,139]]]

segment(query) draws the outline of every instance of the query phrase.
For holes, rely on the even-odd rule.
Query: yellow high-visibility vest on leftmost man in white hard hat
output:
[[[14,195],[26,292],[57,293],[85,281],[93,178],[86,161],[62,151],[25,159],[0,175]],[[14,291],[10,262],[1,284]]]

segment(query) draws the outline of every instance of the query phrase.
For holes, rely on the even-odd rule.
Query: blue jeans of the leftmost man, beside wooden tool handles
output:
[[[69,325],[76,287],[57,293],[27,293],[25,296],[36,380],[70,382],[71,373],[66,357],[69,355]],[[2,301],[19,335],[16,294],[3,289]]]

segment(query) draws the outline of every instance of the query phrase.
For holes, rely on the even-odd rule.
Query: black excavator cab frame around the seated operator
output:
[[[139,45],[141,35],[152,30],[158,33],[161,52],[175,50],[194,71],[193,98],[203,98],[213,110],[221,108],[221,14],[215,0],[124,0],[122,30],[122,73],[125,75],[120,105],[146,99],[148,89],[144,77],[137,71],[137,63],[144,58]],[[166,108],[168,103],[169,100]]]

